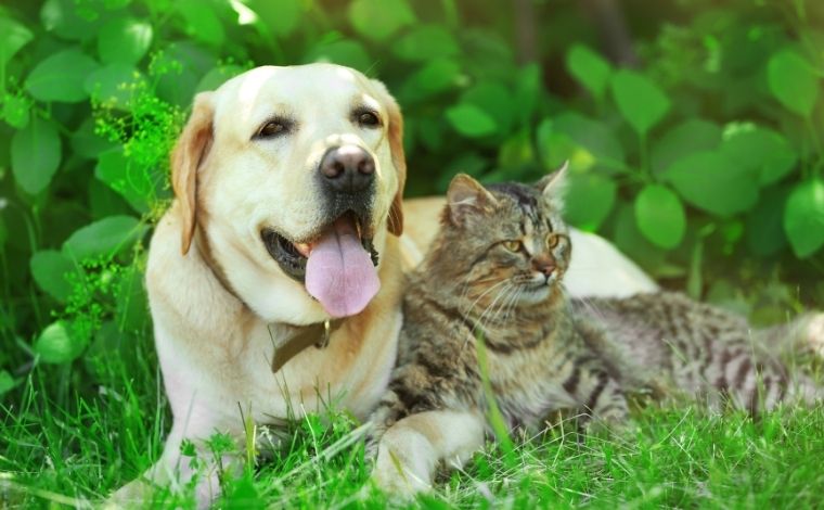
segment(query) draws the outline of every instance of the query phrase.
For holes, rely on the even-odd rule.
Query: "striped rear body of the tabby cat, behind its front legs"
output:
[[[743,317],[674,292],[576,301],[574,310],[579,322],[605,333],[606,342],[593,347],[627,392],[655,390],[712,408],[729,403],[754,415],[824,395],[782,359],[824,342],[821,315],[754,330]]]

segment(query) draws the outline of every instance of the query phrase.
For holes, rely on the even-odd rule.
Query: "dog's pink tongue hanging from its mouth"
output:
[[[332,317],[360,314],[381,280],[350,221],[338,219],[318,241],[306,263],[306,290]]]

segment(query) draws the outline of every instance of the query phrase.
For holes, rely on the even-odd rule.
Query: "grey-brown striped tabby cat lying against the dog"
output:
[[[460,463],[482,445],[489,426],[478,343],[511,429],[542,429],[556,410],[587,426],[620,424],[625,392],[644,388],[712,400],[725,394],[752,410],[759,401],[821,397],[754,349],[758,335],[743,319],[719,309],[671,293],[569,301],[564,179],[565,169],[533,187],[452,180],[441,231],[410,276],[397,365],[372,417],[368,448],[383,488],[426,488],[440,461]],[[815,321],[824,330],[816,316],[768,335]]]

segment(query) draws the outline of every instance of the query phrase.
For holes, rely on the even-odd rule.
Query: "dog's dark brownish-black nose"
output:
[[[333,146],[323,155],[320,171],[333,190],[357,193],[372,183],[375,161],[358,145]]]

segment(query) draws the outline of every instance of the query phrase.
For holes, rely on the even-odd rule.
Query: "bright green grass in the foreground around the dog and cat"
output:
[[[91,507],[159,455],[170,424],[149,341],[87,367],[38,366],[0,410],[0,507]],[[450,507],[804,508],[824,494],[824,408],[785,408],[752,420],[699,408],[647,408],[620,437],[555,429],[494,445],[445,474],[414,505]],[[345,413],[287,425],[285,439],[243,473],[224,476],[221,508],[373,507],[363,429]],[[221,450],[220,438],[214,442]],[[244,454],[241,452],[243,456]],[[194,506],[193,490],[154,506]],[[413,505],[413,506],[414,506]]]

